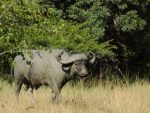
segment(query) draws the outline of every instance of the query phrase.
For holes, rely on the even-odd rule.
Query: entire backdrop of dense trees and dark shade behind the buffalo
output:
[[[2,0],[0,68],[12,53],[65,48],[117,59],[124,71],[150,65],[149,0]],[[126,68],[125,68],[126,67]]]

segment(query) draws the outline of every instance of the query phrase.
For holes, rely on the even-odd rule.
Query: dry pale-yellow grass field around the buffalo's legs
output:
[[[51,90],[41,87],[34,92],[35,102],[24,89],[16,102],[14,85],[0,82],[0,113],[150,113],[150,84],[111,83],[92,88],[66,85],[59,104],[51,103]]]

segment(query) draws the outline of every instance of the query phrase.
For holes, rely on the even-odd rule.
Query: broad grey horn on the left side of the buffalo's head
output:
[[[63,54],[62,54],[63,55]],[[75,54],[69,57],[61,57],[61,59],[59,60],[59,62],[61,64],[69,64],[72,63],[74,61],[78,61],[78,60],[88,60],[87,56],[84,54]]]

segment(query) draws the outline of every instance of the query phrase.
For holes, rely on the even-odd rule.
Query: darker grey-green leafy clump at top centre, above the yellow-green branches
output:
[[[109,16],[108,9],[98,1],[80,0],[68,9],[68,18],[82,23],[93,38],[102,38],[105,33],[105,19]]]

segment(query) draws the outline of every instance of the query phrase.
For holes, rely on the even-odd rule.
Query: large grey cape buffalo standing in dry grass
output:
[[[47,85],[52,89],[52,99],[59,100],[66,82],[75,77],[87,76],[87,64],[93,64],[94,60],[93,53],[87,56],[70,55],[63,49],[31,50],[18,55],[14,59],[16,97],[19,100],[22,84],[26,84],[32,91],[41,85]]]

